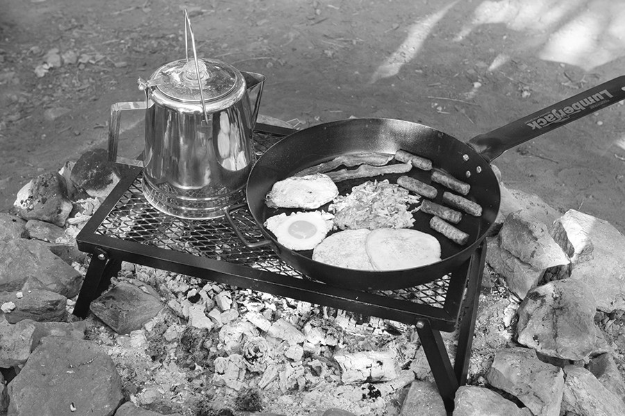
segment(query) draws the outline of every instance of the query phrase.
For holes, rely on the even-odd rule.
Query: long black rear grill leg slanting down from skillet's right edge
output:
[[[467,283],[467,292],[465,293],[466,306],[458,331],[458,349],[456,350],[454,370],[460,385],[467,383],[485,257],[486,243],[482,243],[474,253],[469,266],[469,281]]]

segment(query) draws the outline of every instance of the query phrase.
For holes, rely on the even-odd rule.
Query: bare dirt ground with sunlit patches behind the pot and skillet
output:
[[[185,8],[199,54],[265,74],[260,112],[299,128],[389,117],[465,141],[624,64],[622,0],[0,0],[0,211],[106,148],[110,105],[184,57]],[[508,151],[504,182],[625,232],[621,104]],[[141,123],[124,114],[126,155]]]

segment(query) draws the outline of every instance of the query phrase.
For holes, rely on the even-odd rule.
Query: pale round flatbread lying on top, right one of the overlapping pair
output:
[[[367,236],[365,249],[376,270],[401,270],[440,261],[438,240],[416,229],[374,229]]]

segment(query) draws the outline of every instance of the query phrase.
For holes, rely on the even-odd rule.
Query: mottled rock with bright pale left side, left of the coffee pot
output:
[[[72,202],[67,196],[65,180],[58,173],[47,173],[35,177],[17,192],[13,203],[17,216],[25,220],[42,220],[65,225],[72,212]]]

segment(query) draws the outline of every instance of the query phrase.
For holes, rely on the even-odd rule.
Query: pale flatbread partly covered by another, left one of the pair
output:
[[[342,268],[375,270],[365,249],[368,229],[346,229],[327,236],[313,250],[313,260]]]

